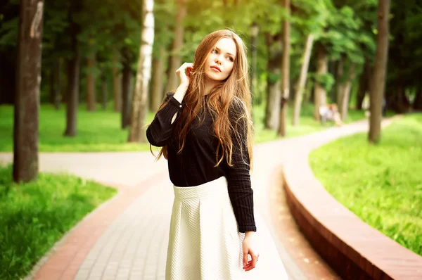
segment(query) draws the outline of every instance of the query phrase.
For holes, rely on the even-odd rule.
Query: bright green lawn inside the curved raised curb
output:
[[[314,174],[364,222],[422,255],[422,114],[405,115],[370,145],[360,133],[309,155]]]

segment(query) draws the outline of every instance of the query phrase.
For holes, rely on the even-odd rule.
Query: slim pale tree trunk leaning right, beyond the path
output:
[[[314,43],[314,35],[309,34],[306,39],[305,50],[302,56],[302,68],[300,69],[300,77],[296,85],[295,106],[293,108],[293,126],[299,124],[300,106],[302,105],[302,95],[305,89],[307,72],[309,68],[309,60],[311,58],[312,44]]]

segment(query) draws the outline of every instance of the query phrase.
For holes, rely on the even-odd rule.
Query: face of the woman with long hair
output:
[[[205,75],[211,81],[223,81],[231,74],[236,59],[236,44],[233,39],[219,39],[205,61]]]

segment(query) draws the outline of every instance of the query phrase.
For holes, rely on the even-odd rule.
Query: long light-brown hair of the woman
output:
[[[231,74],[210,91],[207,104],[205,104],[203,103],[202,94],[205,91],[205,60],[215,47],[215,44],[222,38],[233,39],[236,44],[237,55]],[[250,169],[252,169],[251,96],[245,44],[231,30],[212,32],[198,45],[193,58],[193,65],[191,82],[184,96],[185,108],[181,110],[181,115],[178,117],[176,127],[174,127],[178,132],[180,144],[178,153],[181,153],[184,148],[186,134],[191,123],[196,117],[200,117],[200,112],[205,111],[205,106],[207,106],[214,117],[214,134],[219,140],[219,146],[215,155],[215,166],[217,167],[222,162],[224,156],[227,164],[233,166],[231,155],[234,145],[236,145],[236,148],[240,149],[243,160],[243,153],[248,153]],[[158,111],[164,108],[165,105],[166,103],[163,103]],[[241,139],[241,136],[246,137]],[[235,140],[235,143],[233,143],[233,140]],[[246,144],[248,151],[243,151],[242,144]],[[157,160],[161,155],[164,155],[167,159],[167,146],[161,148]]]

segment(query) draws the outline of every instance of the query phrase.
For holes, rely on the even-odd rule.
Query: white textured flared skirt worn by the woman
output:
[[[256,210],[255,224],[260,257],[255,269],[245,272],[245,234],[238,232],[226,178],[200,186],[174,186],[165,279],[288,279],[271,234]]]

